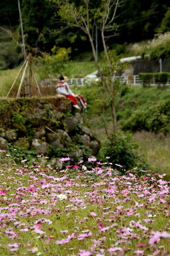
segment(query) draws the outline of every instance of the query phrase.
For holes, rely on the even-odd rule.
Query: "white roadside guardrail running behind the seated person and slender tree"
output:
[[[116,76],[116,78],[120,79],[120,81],[122,83],[126,82],[127,84],[130,84],[130,85],[142,85],[142,81],[139,79],[139,75],[133,76],[132,81],[125,80],[123,78],[123,76]],[[67,83],[68,83],[68,85],[70,87],[74,86],[74,85],[84,86],[85,83],[87,83],[88,81],[93,81],[93,79],[88,79],[88,78],[71,78],[71,79],[68,79]],[[57,79],[41,80],[40,84],[41,84],[41,87],[51,87],[51,86],[54,86],[54,84],[57,84]]]

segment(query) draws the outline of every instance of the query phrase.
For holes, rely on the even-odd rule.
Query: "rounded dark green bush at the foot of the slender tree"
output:
[[[113,166],[119,164],[123,169],[129,170],[142,163],[141,156],[136,153],[138,147],[139,145],[132,141],[132,134],[125,134],[119,130],[113,132],[105,141],[102,154],[110,157],[109,162],[113,163]]]

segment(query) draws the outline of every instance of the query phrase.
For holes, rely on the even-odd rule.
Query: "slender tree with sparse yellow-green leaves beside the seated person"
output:
[[[103,88],[105,87],[111,96],[111,116],[113,119],[113,131],[117,129],[116,111],[115,111],[115,94],[116,72],[120,70],[120,58],[114,56],[113,51],[107,47],[106,40],[116,35],[116,11],[122,0],[99,0],[96,4],[89,0],[69,1],[69,0],[49,0],[58,6],[57,15],[61,17],[64,29],[74,26],[82,30],[88,37],[91,44],[92,53],[98,74],[101,77],[101,88],[103,95]],[[76,2],[76,3],[75,3]],[[95,1],[94,1],[95,2]],[[59,20],[58,20],[59,21]],[[62,27],[62,29],[63,29]],[[105,64],[102,65],[96,55],[94,32],[96,27],[101,34],[102,45],[104,49],[103,60]],[[109,35],[106,36],[106,33]]]

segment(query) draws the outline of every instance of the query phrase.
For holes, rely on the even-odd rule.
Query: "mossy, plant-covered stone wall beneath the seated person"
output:
[[[84,114],[65,97],[0,100],[0,149],[33,151],[62,168],[62,157],[71,163],[95,157],[100,142],[84,125]],[[22,156],[21,156],[22,157]]]

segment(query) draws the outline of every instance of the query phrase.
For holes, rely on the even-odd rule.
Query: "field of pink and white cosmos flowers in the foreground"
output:
[[[0,254],[170,255],[170,192],[164,175],[89,158],[63,170],[15,163],[0,152]]]

